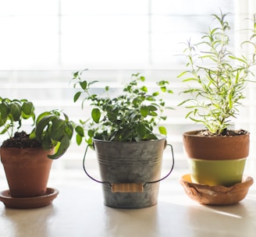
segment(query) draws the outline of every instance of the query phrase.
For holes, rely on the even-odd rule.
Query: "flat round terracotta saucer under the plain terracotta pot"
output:
[[[12,197],[9,194],[9,190],[4,190],[0,192],[0,200],[5,204],[5,207],[28,209],[48,206],[58,194],[59,190],[47,188],[44,196]]]

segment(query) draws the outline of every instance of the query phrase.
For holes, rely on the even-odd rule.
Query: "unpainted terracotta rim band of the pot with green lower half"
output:
[[[249,155],[249,133],[240,136],[196,136],[198,131],[183,133],[183,145],[190,158],[235,160]]]

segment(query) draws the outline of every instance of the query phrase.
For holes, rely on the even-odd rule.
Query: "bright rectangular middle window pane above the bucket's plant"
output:
[[[64,65],[147,63],[147,16],[63,16]]]

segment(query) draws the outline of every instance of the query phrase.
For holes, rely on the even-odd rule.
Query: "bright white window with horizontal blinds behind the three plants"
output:
[[[72,72],[78,69],[87,68],[88,79],[116,87],[138,72],[151,82],[169,80],[176,92],[169,105],[176,110],[169,111],[165,126],[175,152],[175,172],[187,169],[182,133],[201,128],[185,120],[186,111],[176,107],[183,87],[176,79],[184,67],[183,58],[177,56],[183,51],[180,43],[201,37],[201,31],[212,23],[211,14],[222,9],[232,12],[235,49],[236,38],[243,37],[240,23],[255,9],[253,0],[0,0],[0,5],[0,96],[26,97],[34,101],[37,113],[60,107],[77,120],[86,116],[80,104],[73,103],[69,85]],[[248,172],[255,170],[255,97],[252,85],[242,108],[246,116],[236,121],[236,126],[251,131]],[[54,162],[55,171],[72,177],[82,172],[84,150],[85,144],[76,147],[73,143],[62,161]],[[90,154],[88,167],[92,169],[93,160]],[[164,168],[168,165],[167,159]]]

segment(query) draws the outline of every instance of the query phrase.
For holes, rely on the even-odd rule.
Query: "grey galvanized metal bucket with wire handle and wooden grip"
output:
[[[94,140],[94,150],[98,157],[98,164],[102,181],[104,203],[115,208],[144,208],[151,207],[158,202],[159,182],[167,178],[174,167],[172,150],[172,167],[162,179],[162,154],[166,146],[165,137],[159,140],[141,142],[118,142]]]

